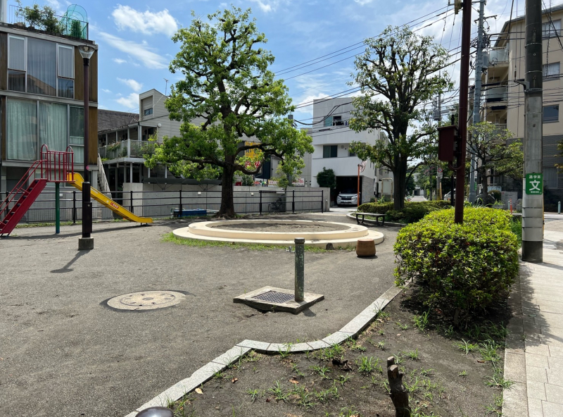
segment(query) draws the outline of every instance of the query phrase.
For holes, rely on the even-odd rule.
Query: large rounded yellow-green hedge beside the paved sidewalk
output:
[[[435,211],[401,229],[393,247],[397,285],[415,280],[428,306],[454,323],[507,298],[518,274],[518,239],[510,215],[490,208]]]

